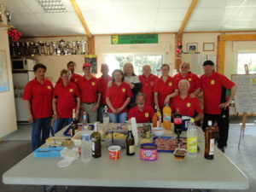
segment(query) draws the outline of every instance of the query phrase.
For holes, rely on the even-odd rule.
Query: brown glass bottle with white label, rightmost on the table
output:
[[[214,128],[212,127],[212,120],[208,120],[208,127],[205,131],[205,158],[213,160],[214,158]]]

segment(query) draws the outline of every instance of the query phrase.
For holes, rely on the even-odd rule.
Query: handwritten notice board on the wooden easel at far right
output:
[[[236,113],[256,112],[256,74],[232,74],[231,79],[237,85]]]

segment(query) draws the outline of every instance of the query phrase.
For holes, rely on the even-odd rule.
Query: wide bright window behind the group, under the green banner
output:
[[[156,69],[160,69],[164,61],[163,54],[108,54],[105,55],[105,63],[109,67],[109,75],[113,73],[114,69],[121,69],[125,62],[131,62],[134,67],[134,73],[142,74],[143,66],[149,65],[152,73],[157,74]]]

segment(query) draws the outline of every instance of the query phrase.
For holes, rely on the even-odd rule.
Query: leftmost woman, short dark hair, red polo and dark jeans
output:
[[[49,137],[53,85],[44,79],[44,64],[35,65],[33,71],[36,78],[26,84],[22,99],[25,100],[28,122],[32,123],[32,149],[35,150]]]

